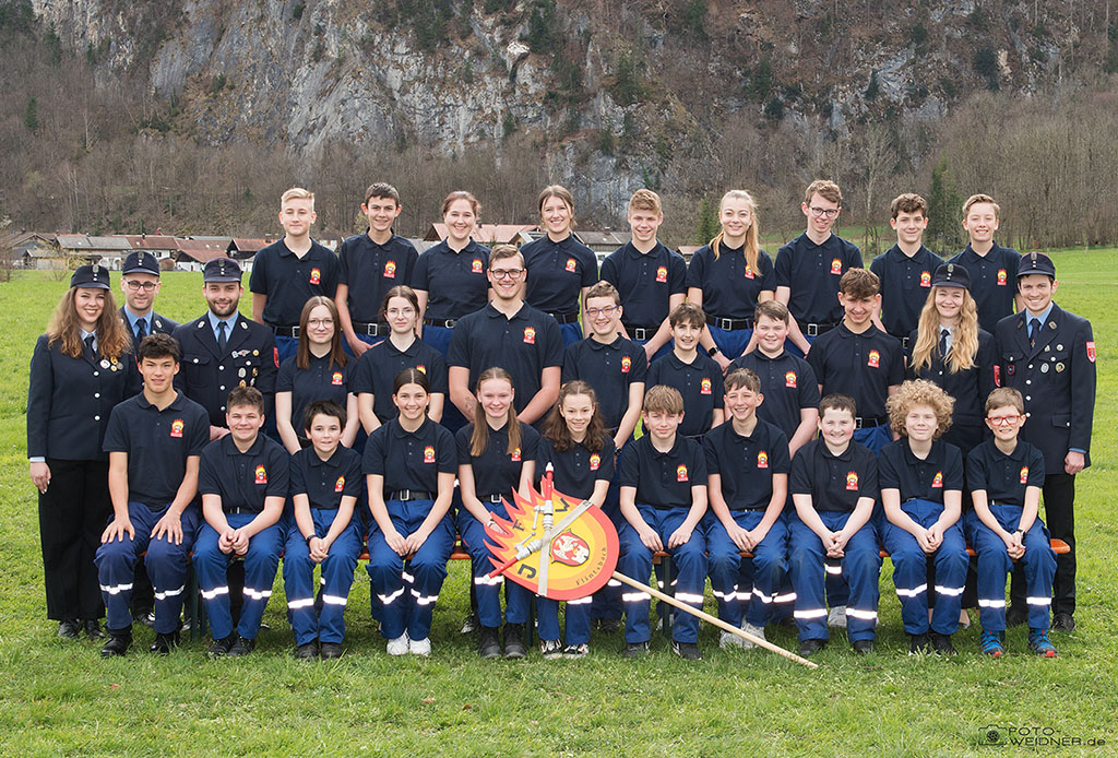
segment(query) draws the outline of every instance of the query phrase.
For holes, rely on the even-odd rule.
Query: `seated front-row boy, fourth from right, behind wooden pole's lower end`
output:
[[[760,379],[749,369],[731,371],[726,378],[724,400],[730,421],[711,429],[703,440],[710,498],[703,531],[710,585],[718,598],[719,618],[764,639],[788,568],[788,528],[780,518],[792,465],[788,438],[757,417],[765,397]],[[739,551],[754,553],[751,589],[739,584]],[[722,632],[719,644],[754,646],[728,632]]]

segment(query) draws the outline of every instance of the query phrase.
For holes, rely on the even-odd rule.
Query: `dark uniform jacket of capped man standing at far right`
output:
[[[1044,454],[1048,471],[1063,471],[1068,451],[1083,452],[1091,465],[1095,415],[1095,337],[1091,323],[1052,304],[1035,347],[1029,347],[1027,311],[997,324],[998,380],[1025,398],[1029,421],[1021,438]]]

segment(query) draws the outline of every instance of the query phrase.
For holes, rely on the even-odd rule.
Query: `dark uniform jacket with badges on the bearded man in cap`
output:
[[[272,415],[278,366],[271,329],[238,313],[222,354],[207,314],[176,329],[174,339],[182,347],[174,387],[206,408],[210,424],[225,426],[225,404],[238,385],[260,390],[264,411]]]

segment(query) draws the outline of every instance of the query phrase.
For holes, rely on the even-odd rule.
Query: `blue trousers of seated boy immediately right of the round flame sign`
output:
[[[641,518],[660,536],[667,549],[667,538],[688,518],[690,508],[652,508],[637,505]],[[644,546],[636,530],[628,522],[622,527],[618,534],[620,556],[617,568],[625,576],[637,581],[648,581],[652,575],[652,550]],[[702,608],[702,594],[707,586],[707,539],[700,522],[691,539],[678,548],[669,549],[672,557],[672,570],[675,575],[675,599],[695,608]],[[670,591],[670,590],[666,590]],[[625,642],[648,642],[652,638],[652,627],[648,624],[648,608],[652,597],[635,587],[626,586],[622,593],[625,605]],[[699,619],[686,613],[675,613],[672,624],[672,638],[675,642],[698,642]]]

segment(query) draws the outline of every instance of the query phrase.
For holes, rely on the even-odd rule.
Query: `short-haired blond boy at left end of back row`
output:
[[[276,337],[280,361],[295,354],[299,316],[313,295],[333,300],[338,290],[338,256],[311,239],[316,218],[314,193],[293,187],[280,199],[284,237],[256,254],[248,288],[253,293],[253,321],[269,326]]]

